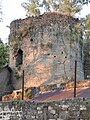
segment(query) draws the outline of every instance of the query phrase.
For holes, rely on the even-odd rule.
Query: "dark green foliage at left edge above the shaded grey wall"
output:
[[[0,69],[8,63],[8,46],[0,44]]]

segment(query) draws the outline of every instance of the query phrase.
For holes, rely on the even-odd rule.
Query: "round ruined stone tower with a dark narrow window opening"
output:
[[[80,21],[59,13],[45,13],[12,21],[10,24],[10,67],[13,83],[19,86],[22,70],[25,86],[82,80],[82,43]],[[20,87],[20,86],[19,86]]]

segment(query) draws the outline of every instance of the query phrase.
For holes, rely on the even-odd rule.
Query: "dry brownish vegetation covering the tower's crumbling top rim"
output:
[[[14,30],[12,29],[11,34],[10,34],[10,39],[9,39],[10,42],[13,42],[14,51],[17,51],[18,44],[22,40],[23,37],[29,34],[31,36],[34,35],[35,34],[34,32],[40,31],[40,28],[43,29],[43,27],[46,25],[52,26],[52,25],[58,24],[59,26],[62,26],[63,28],[64,27],[66,28],[69,26],[71,30],[71,38],[68,37],[68,33],[66,34],[67,34],[68,39],[69,40],[71,39],[72,41],[78,40],[78,38],[80,39],[80,35],[82,31],[81,22],[78,19],[75,19],[68,15],[60,14],[57,12],[48,12],[38,17],[29,17],[27,19],[23,19],[20,21],[16,20],[11,23],[11,26],[13,26],[16,23],[18,24],[19,22],[21,24],[21,27],[19,29],[17,29],[16,27],[14,28]],[[33,32],[34,29],[35,31]],[[59,35],[60,35],[59,31],[58,33],[55,33],[56,37],[58,37]]]

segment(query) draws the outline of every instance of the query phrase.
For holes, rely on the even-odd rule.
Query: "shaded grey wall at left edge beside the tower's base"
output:
[[[13,90],[12,69],[5,65],[0,70],[0,100],[2,100],[2,96],[12,93]]]

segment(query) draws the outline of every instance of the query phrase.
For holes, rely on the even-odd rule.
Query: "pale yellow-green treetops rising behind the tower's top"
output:
[[[22,3],[27,11],[27,16],[38,16],[43,12],[60,12],[67,15],[75,15],[81,10],[81,6],[70,0],[27,0]]]

